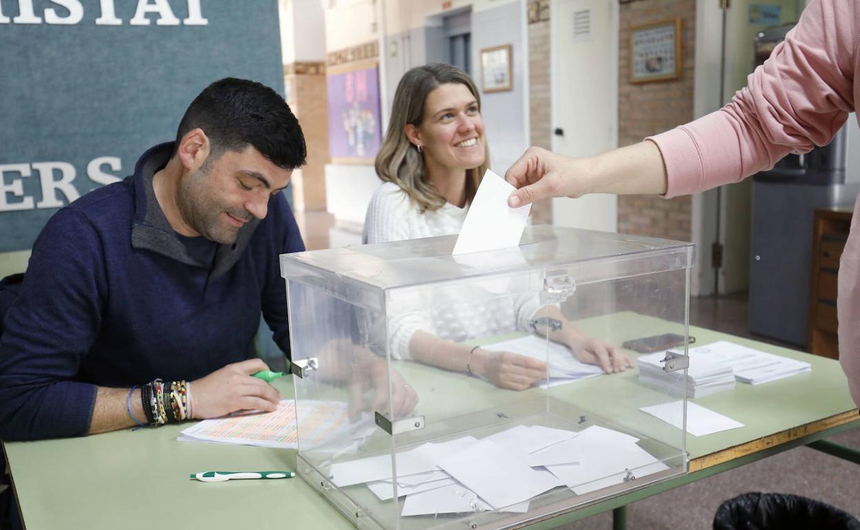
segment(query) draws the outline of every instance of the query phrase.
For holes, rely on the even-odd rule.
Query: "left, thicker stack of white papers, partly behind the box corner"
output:
[[[686,378],[684,370],[664,372],[666,366],[663,359],[666,352],[651,353],[640,356],[636,363],[639,365],[639,381],[666,388],[669,392],[688,398],[701,398],[708,394],[722,392],[734,388],[734,373],[732,367],[719,359],[698,355],[695,348],[690,350],[690,368]]]

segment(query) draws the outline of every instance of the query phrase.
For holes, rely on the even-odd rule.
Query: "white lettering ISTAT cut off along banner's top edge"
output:
[[[124,21],[120,18],[121,15],[131,17],[128,19],[129,26],[149,26],[152,21],[155,21],[156,26],[209,24],[209,20],[203,16],[200,0],[138,0],[133,11],[120,14],[116,12],[115,2],[116,0],[99,0],[100,13],[94,20],[96,26],[122,26]],[[68,26],[80,24],[86,15],[81,0],[47,0],[47,3],[49,6],[37,13],[34,0],[0,0],[0,24]],[[180,20],[174,9],[181,9],[183,4],[187,17]],[[126,8],[125,5],[123,7]]]

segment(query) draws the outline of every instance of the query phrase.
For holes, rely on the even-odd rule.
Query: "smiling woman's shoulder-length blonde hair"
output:
[[[376,171],[384,182],[393,182],[406,192],[409,199],[418,204],[423,213],[439,210],[445,198],[427,180],[427,168],[418,149],[409,142],[404,132],[407,124],[421,125],[427,95],[441,84],[460,83],[469,88],[481,108],[481,95],[469,74],[456,66],[431,63],[417,66],[403,75],[394,94],[391,118],[382,147],[376,158]],[[475,198],[478,185],[489,167],[489,147],[484,140],[484,161],[481,166],[466,170],[466,204]]]

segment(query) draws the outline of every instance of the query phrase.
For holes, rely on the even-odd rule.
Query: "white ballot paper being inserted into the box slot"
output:
[[[511,208],[507,198],[516,188],[499,175],[487,170],[472,204],[452,254],[519,246],[531,204]]]

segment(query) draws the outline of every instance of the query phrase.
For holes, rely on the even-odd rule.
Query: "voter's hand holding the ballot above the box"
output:
[[[576,177],[582,172],[579,166],[584,160],[556,155],[539,147],[526,149],[505,173],[505,180],[518,188],[507,203],[516,208],[541,198],[581,197],[586,189]]]

